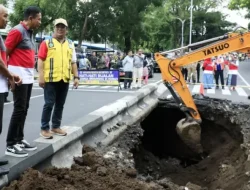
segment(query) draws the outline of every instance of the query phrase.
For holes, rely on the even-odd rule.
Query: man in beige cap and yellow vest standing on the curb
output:
[[[66,38],[67,29],[66,20],[56,19],[53,37],[41,43],[38,53],[39,86],[44,88],[45,100],[40,135],[45,139],[52,139],[53,134],[67,135],[60,127],[71,73],[74,77],[74,87],[77,88],[79,84],[76,52],[74,43]],[[53,108],[50,130],[49,122]]]

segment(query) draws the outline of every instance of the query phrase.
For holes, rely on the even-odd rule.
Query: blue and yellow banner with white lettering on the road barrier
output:
[[[80,84],[119,86],[119,70],[78,71]]]

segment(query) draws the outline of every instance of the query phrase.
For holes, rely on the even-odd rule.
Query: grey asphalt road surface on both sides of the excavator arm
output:
[[[247,98],[247,96],[250,95],[249,72],[250,60],[241,62],[239,66],[236,91],[230,91],[228,87],[226,87],[225,90],[222,90],[221,88],[218,90],[205,90],[205,95],[220,99],[228,99],[234,102],[249,103],[250,100]],[[161,74],[155,73],[154,78],[149,79],[149,83],[158,82],[159,80],[161,80]],[[200,85],[189,84],[189,89],[192,94],[199,93]],[[82,86],[77,90],[72,90],[70,88],[63,113],[62,125],[69,125],[72,121],[78,119],[79,117],[82,117],[131,93],[134,93],[134,91],[120,90],[118,92],[117,87],[113,86]],[[167,92],[165,96],[171,95],[169,92]],[[12,100],[11,93],[9,95],[9,99]],[[33,86],[32,98],[30,101],[30,109],[25,124],[25,138],[30,142],[39,137],[43,103],[43,90],[38,86],[37,82],[35,82]],[[6,103],[4,107],[3,132],[0,136],[0,156],[4,154],[6,146],[6,134],[12,111],[13,102]]]

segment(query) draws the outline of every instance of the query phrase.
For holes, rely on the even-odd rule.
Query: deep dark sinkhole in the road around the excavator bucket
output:
[[[206,154],[201,158],[177,135],[176,124],[184,117],[179,109],[157,107],[141,123],[141,144],[132,151],[140,175],[156,180],[167,177],[180,186],[191,182],[208,189],[239,189],[247,181],[242,138],[203,119],[201,144]]]

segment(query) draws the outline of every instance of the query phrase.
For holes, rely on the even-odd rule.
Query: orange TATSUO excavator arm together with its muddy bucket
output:
[[[191,52],[173,59],[164,56],[185,49],[191,50]],[[198,154],[203,153],[200,143],[202,119],[183,78],[181,68],[229,52],[250,53],[250,32],[228,33],[224,36],[197,42],[182,48],[155,53],[155,60],[160,67],[163,83],[172,94],[179,108],[186,115],[186,118],[177,123],[177,133],[182,141]]]

